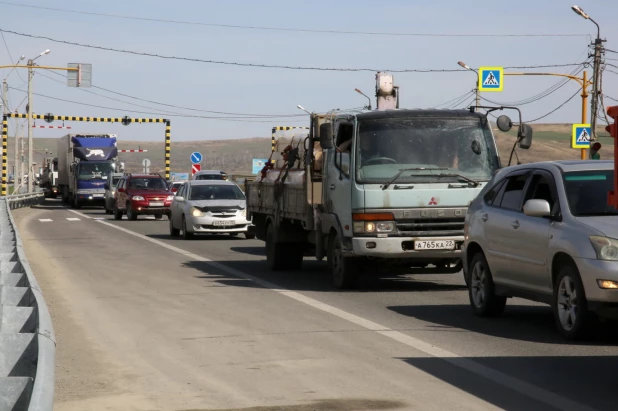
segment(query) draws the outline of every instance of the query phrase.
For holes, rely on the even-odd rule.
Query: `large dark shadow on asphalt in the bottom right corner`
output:
[[[588,409],[616,409],[616,380],[618,357],[616,356],[555,356],[555,357],[474,357],[474,358],[400,358],[465,392],[487,401],[504,410],[560,410],[582,409],[573,404],[567,408],[558,404],[553,395],[583,404]],[[500,375],[479,377],[468,371],[469,365],[477,364],[499,371],[529,384],[517,392],[507,388],[513,386],[510,380]],[[506,385],[506,386],[505,386]],[[536,388],[547,402],[532,399]],[[528,394],[526,397],[522,394]],[[552,404],[551,406],[547,403]]]

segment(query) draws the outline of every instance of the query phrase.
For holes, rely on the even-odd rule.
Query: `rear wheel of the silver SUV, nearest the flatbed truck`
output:
[[[476,253],[470,262],[468,295],[474,314],[496,317],[504,312],[506,297],[496,295],[494,280],[483,253]]]

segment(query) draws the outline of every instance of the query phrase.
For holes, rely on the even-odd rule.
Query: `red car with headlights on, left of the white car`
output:
[[[167,215],[174,199],[167,181],[159,174],[125,174],[118,181],[114,196],[114,218],[137,220],[139,215],[154,215],[156,219]]]

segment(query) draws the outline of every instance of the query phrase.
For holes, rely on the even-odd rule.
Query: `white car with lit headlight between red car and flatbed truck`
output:
[[[240,233],[255,238],[247,220],[247,200],[242,190],[225,180],[191,180],[178,189],[170,207],[170,235],[188,240],[194,234]]]

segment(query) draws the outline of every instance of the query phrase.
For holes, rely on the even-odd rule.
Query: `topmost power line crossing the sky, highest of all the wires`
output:
[[[217,24],[217,23],[204,23],[197,21],[183,21],[183,20],[170,20],[170,19],[156,19],[156,18],[148,18],[148,17],[139,17],[139,16],[127,16],[120,14],[109,14],[109,13],[95,13],[89,11],[81,11],[81,10],[69,10],[69,9],[61,9],[54,7],[43,7],[43,6],[32,6],[28,4],[18,4],[9,1],[0,1],[0,4],[6,4],[8,6],[15,7],[27,7],[32,9],[40,9],[40,10],[49,10],[63,13],[73,13],[73,14],[85,14],[90,16],[100,16],[100,17],[109,17],[116,19],[126,19],[126,20],[140,20],[140,21],[150,21],[156,23],[170,23],[170,24],[183,24],[183,25],[193,25],[193,26],[208,26],[208,27],[220,27],[220,28],[228,28],[228,29],[249,29],[249,30],[267,30],[267,31],[293,31],[293,32],[302,32],[302,33],[329,33],[329,34],[361,34],[361,35],[372,35],[372,36],[407,36],[407,37],[587,37],[588,34],[562,34],[562,33],[540,33],[540,34],[440,34],[440,33],[389,33],[389,32],[379,32],[379,31],[345,31],[345,30],[319,30],[319,29],[301,29],[301,28],[286,28],[286,27],[267,27],[267,26],[244,26],[244,25],[236,25],[236,24]]]

